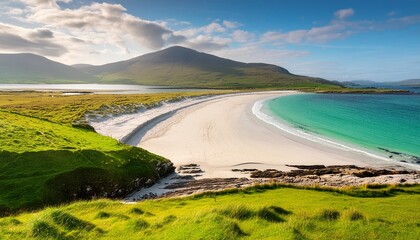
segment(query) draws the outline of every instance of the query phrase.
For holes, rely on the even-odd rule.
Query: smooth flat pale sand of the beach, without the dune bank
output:
[[[197,104],[156,124],[138,146],[177,166],[198,163],[205,177],[240,175],[232,168],[287,170],[286,164],[395,165],[296,137],[252,113],[256,101],[288,94],[294,93],[252,93]]]

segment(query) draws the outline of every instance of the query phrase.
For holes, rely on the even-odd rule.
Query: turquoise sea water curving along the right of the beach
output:
[[[264,105],[289,132],[420,164],[420,94],[298,94]]]

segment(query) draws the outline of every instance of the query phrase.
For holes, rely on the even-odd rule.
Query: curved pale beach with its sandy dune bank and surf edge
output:
[[[297,91],[270,91],[187,98],[174,103],[163,103],[160,106],[142,110],[134,114],[124,114],[114,117],[108,116],[91,120],[89,123],[98,133],[113,137],[120,142],[133,146],[139,146],[158,155],[162,155],[170,159],[175,166],[198,163],[205,170],[202,177],[238,177],[238,175],[230,172],[229,169],[226,168],[234,168],[235,166],[240,165],[259,169],[265,167],[266,169],[276,168],[278,170],[291,170],[291,168],[286,166],[287,164],[305,164],[305,162],[306,164],[357,164],[363,167],[419,169],[416,168],[417,166],[405,164],[404,162],[390,161],[380,155],[365,152],[358,148],[348,147],[339,142],[323,139],[330,143],[323,144],[317,141],[318,138],[321,137],[309,133],[305,134],[317,139],[305,139],[305,137],[302,137],[299,134],[290,132],[290,130],[297,131],[293,128],[289,128],[288,126],[286,126],[286,128],[279,127],[278,124],[281,124],[281,122],[274,119],[274,116],[268,116],[262,111],[262,103],[270,99],[290,94],[304,93]],[[243,98],[243,100],[235,102],[235,99],[238,98]],[[234,102],[233,105],[231,104],[232,101]],[[224,106],[225,104],[227,105]],[[217,109],[217,107],[216,109],[215,107],[212,107],[214,105],[217,105],[219,109]],[[236,111],[234,115],[230,116],[229,114],[231,114],[231,110],[237,108],[238,106],[240,106],[243,111]],[[208,110],[211,112],[210,114],[205,113]],[[200,112],[200,114],[204,113],[203,115],[210,116],[210,118],[207,119],[206,117],[200,116],[200,114],[195,113],[196,111]],[[225,116],[226,120],[231,119],[231,117],[235,118],[235,120],[230,121],[229,127],[221,126],[222,129],[216,129],[218,131],[214,132],[214,129],[211,129],[211,125],[220,125],[220,119],[214,118],[215,114],[219,114],[221,118],[224,117],[224,114],[228,114]],[[238,117],[238,115],[240,116]],[[188,118],[189,125],[182,122],[185,118]],[[244,121],[246,121],[246,124],[243,124],[239,126],[240,128],[238,128],[237,123]],[[204,126],[205,124],[203,125],[204,122],[207,122],[207,126]],[[173,131],[173,128],[178,129]],[[240,138],[238,138],[238,136],[235,136],[243,130],[252,130],[252,128],[258,128],[264,132],[261,134],[255,130],[253,131],[255,135],[259,137],[259,143],[257,141],[248,141],[246,142],[248,145],[246,145]],[[188,135],[189,132],[193,132],[193,134]],[[211,133],[211,137],[214,139],[211,139],[211,141],[209,141],[209,139],[203,139],[202,136],[198,136],[198,133]],[[248,150],[250,147],[252,148],[253,144],[257,144],[261,148],[261,143],[264,144],[264,142],[267,142],[271,144],[271,146],[274,146],[272,144],[273,140],[280,140],[279,142],[286,142],[291,148],[299,148],[304,152],[308,152],[309,150],[309,154],[288,151],[289,156],[285,156],[285,154],[282,154],[282,156],[290,158],[293,157],[293,155],[299,155],[306,159],[297,161],[295,157],[295,159],[291,162],[288,162],[287,159],[277,161],[276,159],[273,159],[273,154],[271,154],[268,161],[261,162],[259,159],[263,156],[256,156],[254,159],[249,159],[249,157],[246,157],[244,154],[241,155],[241,150],[238,149],[238,147],[235,149],[227,149],[226,146],[223,146],[223,144],[217,144],[217,142],[226,141],[223,137],[221,138],[220,136],[215,136],[217,134],[229,134],[230,138],[228,145],[230,144],[233,147],[235,147],[235,142],[238,142],[242,143],[240,145],[244,147],[244,149]],[[246,137],[247,140],[254,137],[252,134],[248,134],[246,136],[243,135],[244,134],[242,134],[241,137]],[[194,144],[195,141],[198,141],[201,144]],[[187,144],[191,143],[195,146],[195,148],[185,146],[184,144],[180,145],[179,142]],[[179,149],[177,149],[178,147]],[[185,151],[185,149],[182,150],[184,147],[189,148],[188,151]],[[218,147],[220,147],[222,151],[218,151]],[[271,150],[273,149],[276,149],[276,146],[274,146]],[[265,148],[265,150],[270,151],[269,148]],[[201,155],[192,154],[196,151],[202,151],[203,153]],[[317,155],[327,156],[329,158],[329,162],[320,159],[319,156],[317,157],[317,159],[320,159],[319,161],[308,161],[308,159],[314,158],[311,156],[311,152],[316,152]],[[188,156],[189,153],[191,153],[191,156]],[[208,158],[210,157],[208,153],[211,155],[211,164],[208,164]],[[218,156],[215,156],[215,153],[217,153],[216,155],[218,155],[221,159],[217,159]],[[232,158],[245,157],[247,160],[228,160],[227,162],[232,164],[225,164],[225,166],[222,166],[221,164],[214,164],[217,161],[226,162],[226,159],[223,159],[225,155],[232,156]],[[255,154],[253,155],[255,156]],[[337,159],[332,159],[332,155],[335,155]],[[223,168],[225,169],[223,170]],[[219,173],[214,174],[214,170],[219,171]]]

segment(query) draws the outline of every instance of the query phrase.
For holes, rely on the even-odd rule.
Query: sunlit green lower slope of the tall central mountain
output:
[[[139,74],[139,72],[141,74]],[[211,79],[211,81],[209,81]],[[258,68],[238,68],[236,72],[205,71],[188,65],[133,65],[124,72],[101,77],[106,82],[125,82],[146,85],[189,86],[208,88],[275,88],[275,89],[336,89],[318,79],[282,74]]]

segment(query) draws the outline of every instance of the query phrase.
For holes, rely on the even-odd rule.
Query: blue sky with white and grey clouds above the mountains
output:
[[[0,53],[99,65],[175,45],[329,80],[420,78],[420,0],[0,0]]]

